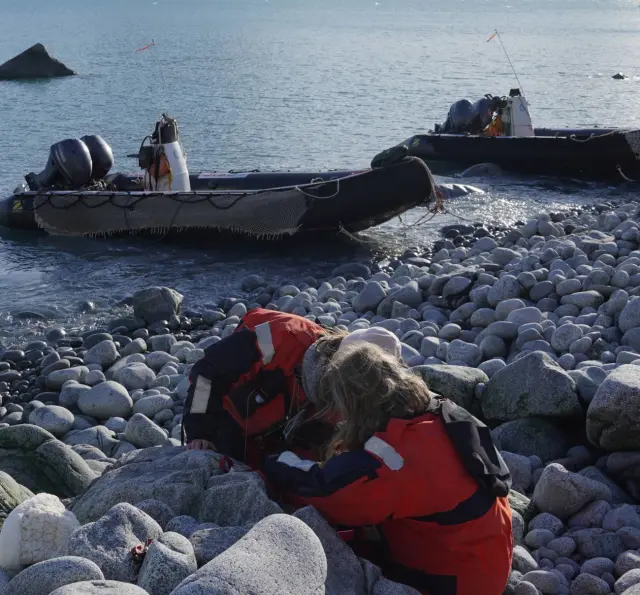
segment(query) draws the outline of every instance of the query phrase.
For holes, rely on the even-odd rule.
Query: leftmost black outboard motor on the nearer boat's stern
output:
[[[54,186],[76,189],[91,179],[93,164],[89,148],[77,138],[68,138],[51,145],[47,166],[39,174],[28,173],[29,190]]]

